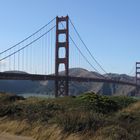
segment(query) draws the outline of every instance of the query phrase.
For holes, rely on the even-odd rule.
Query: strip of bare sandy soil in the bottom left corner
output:
[[[0,140],[34,140],[34,139],[24,136],[11,135],[8,133],[1,133]]]

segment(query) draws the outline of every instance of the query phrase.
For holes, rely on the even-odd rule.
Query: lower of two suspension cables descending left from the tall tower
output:
[[[25,45],[24,47],[18,49],[18,50],[15,51],[15,52],[11,53],[10,55],[7,55],[7,56],[3,57],[2,59],[0,59],[0,61],[4,60],[4,59],[6,59],[6,58],[8,58],[8,57],[10,57],[10,56],[13,56],[14,54],[20,52],[21,50],[27,48],[28,46],[30,46],[31,44],[33,44],[34,42],[38,41],[40,38],[42,38],[43,36],[45,36],[46,34],[48,34],[48,33],[49,33],[51,30],[53,30],[55,27],[56,27],[56,25],[53,26],[51,29],[49,29],[49,30],[48,30],[47,32],[45,32],[44,34],[42,34],[40,37],[38,37],[38,38],[36,38],[35,40],[31,41],[29,44]]]

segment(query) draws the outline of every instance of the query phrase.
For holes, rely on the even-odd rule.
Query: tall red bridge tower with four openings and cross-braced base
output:
[[[60,25],[64,28],[60,28]],[[62,41],[61,37],[64,37]],[[65,49],[64,58],[60,57],[60,48]],[[64,79],[59,78],[59,66],[64,64]],[[69,17],[56,17],[56,48],[55,48],[55,96],[68,96],[69,91]]]

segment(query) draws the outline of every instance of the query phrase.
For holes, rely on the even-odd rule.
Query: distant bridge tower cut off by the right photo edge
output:
[[[136,85],[140,84],[140,62],[136,62]],[[136,95],[139,94],[140,88],[136,87]]]

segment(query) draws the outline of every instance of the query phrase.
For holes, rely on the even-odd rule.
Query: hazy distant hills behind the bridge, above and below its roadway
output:
[[[9,72],[9,71],[6,71]],[[21,71],[10,71],[14,73],[25,73]],[[64,72],[61,72],[63,75]],[[77,77],[98,77],[96,72],[81,68],[72,68],[69,70],[71,76]],[[134,77],[125,74],[106,74],[115,80],[134,82]],[[96,83],[96,82],[70,82],[70,94],[79,95],[86,91],[93,91],[102,95],[133,95],[134,87],[118,84]],[[54,81],[29,81],[29,80],[0,80],[0,91],[11,93],[41,93],[54,94]]]

